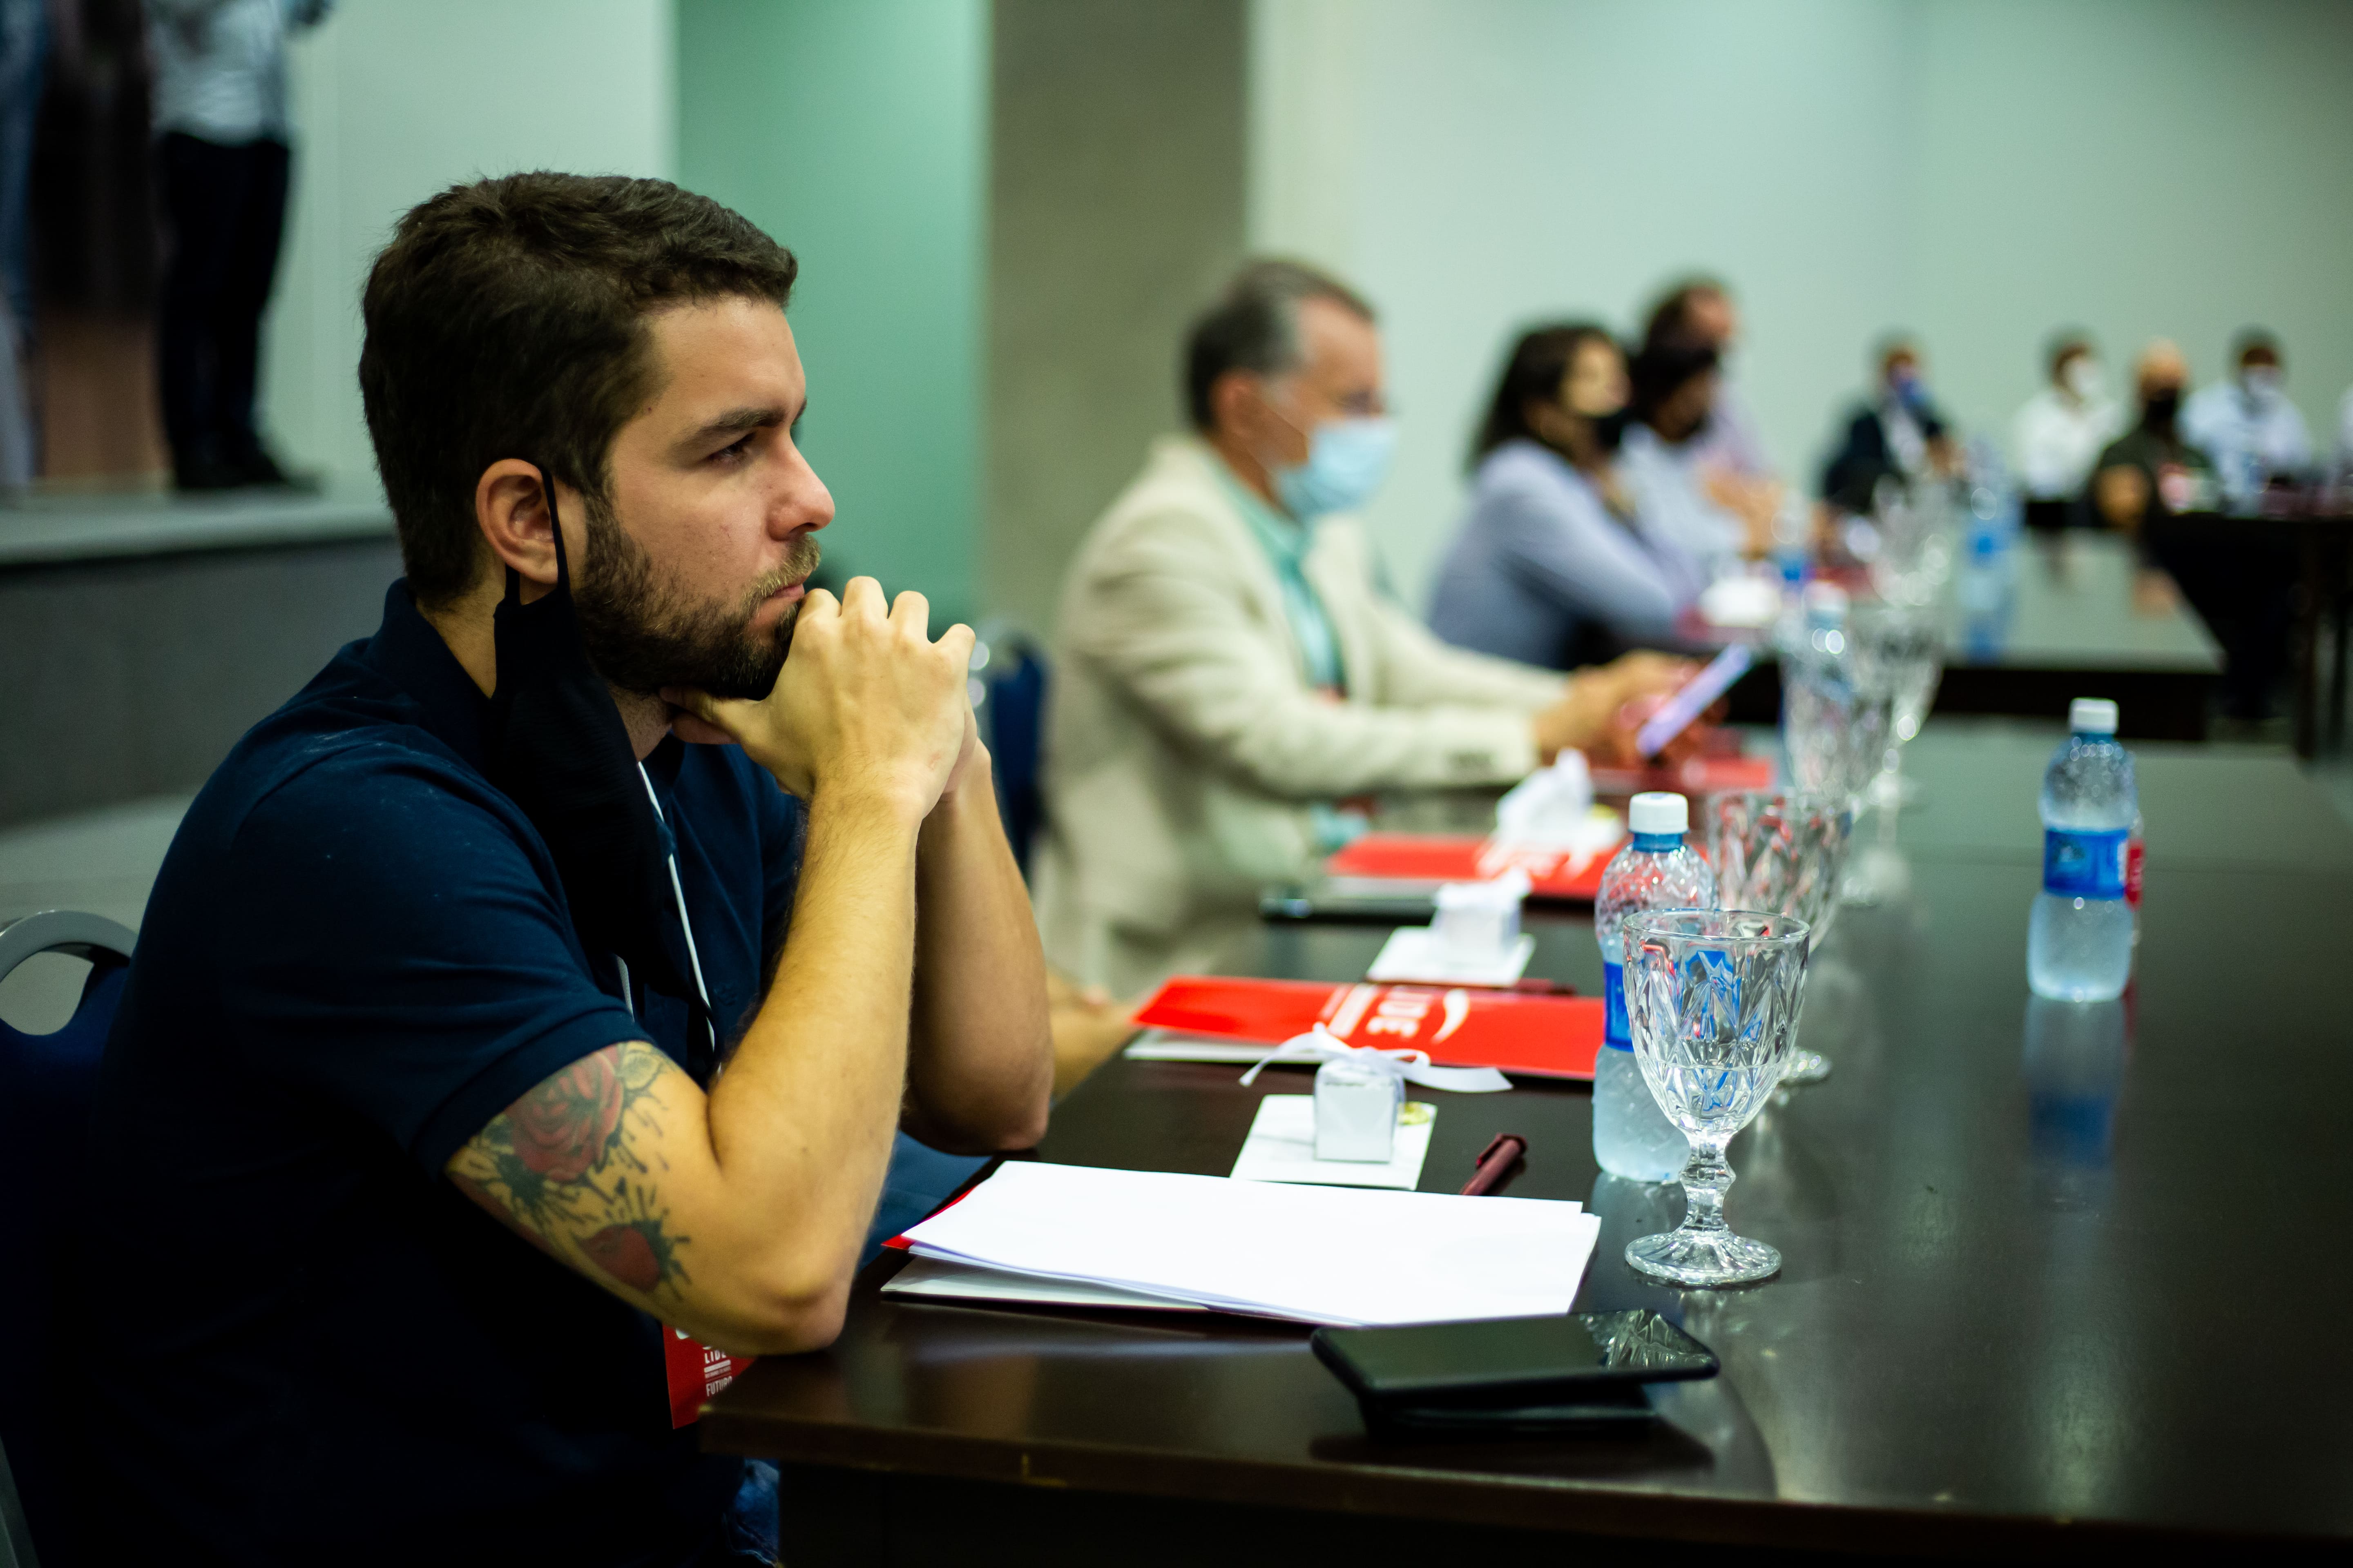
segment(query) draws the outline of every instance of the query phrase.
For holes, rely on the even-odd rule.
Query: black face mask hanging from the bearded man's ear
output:
[[[539,484],[555,536],[555,588],[525,604],[522,578],[506,569],[506,599],[492,621],[499,689],[489,696],[489,780],[546,839],[591,961],[616,954],[638,980],[699,1009],[696,987],[671,957],[671,830],[654,811],[621,710],[581,646],[555,482],[544,468]],[[701,1034],[687,1032],[696,1044]]]

